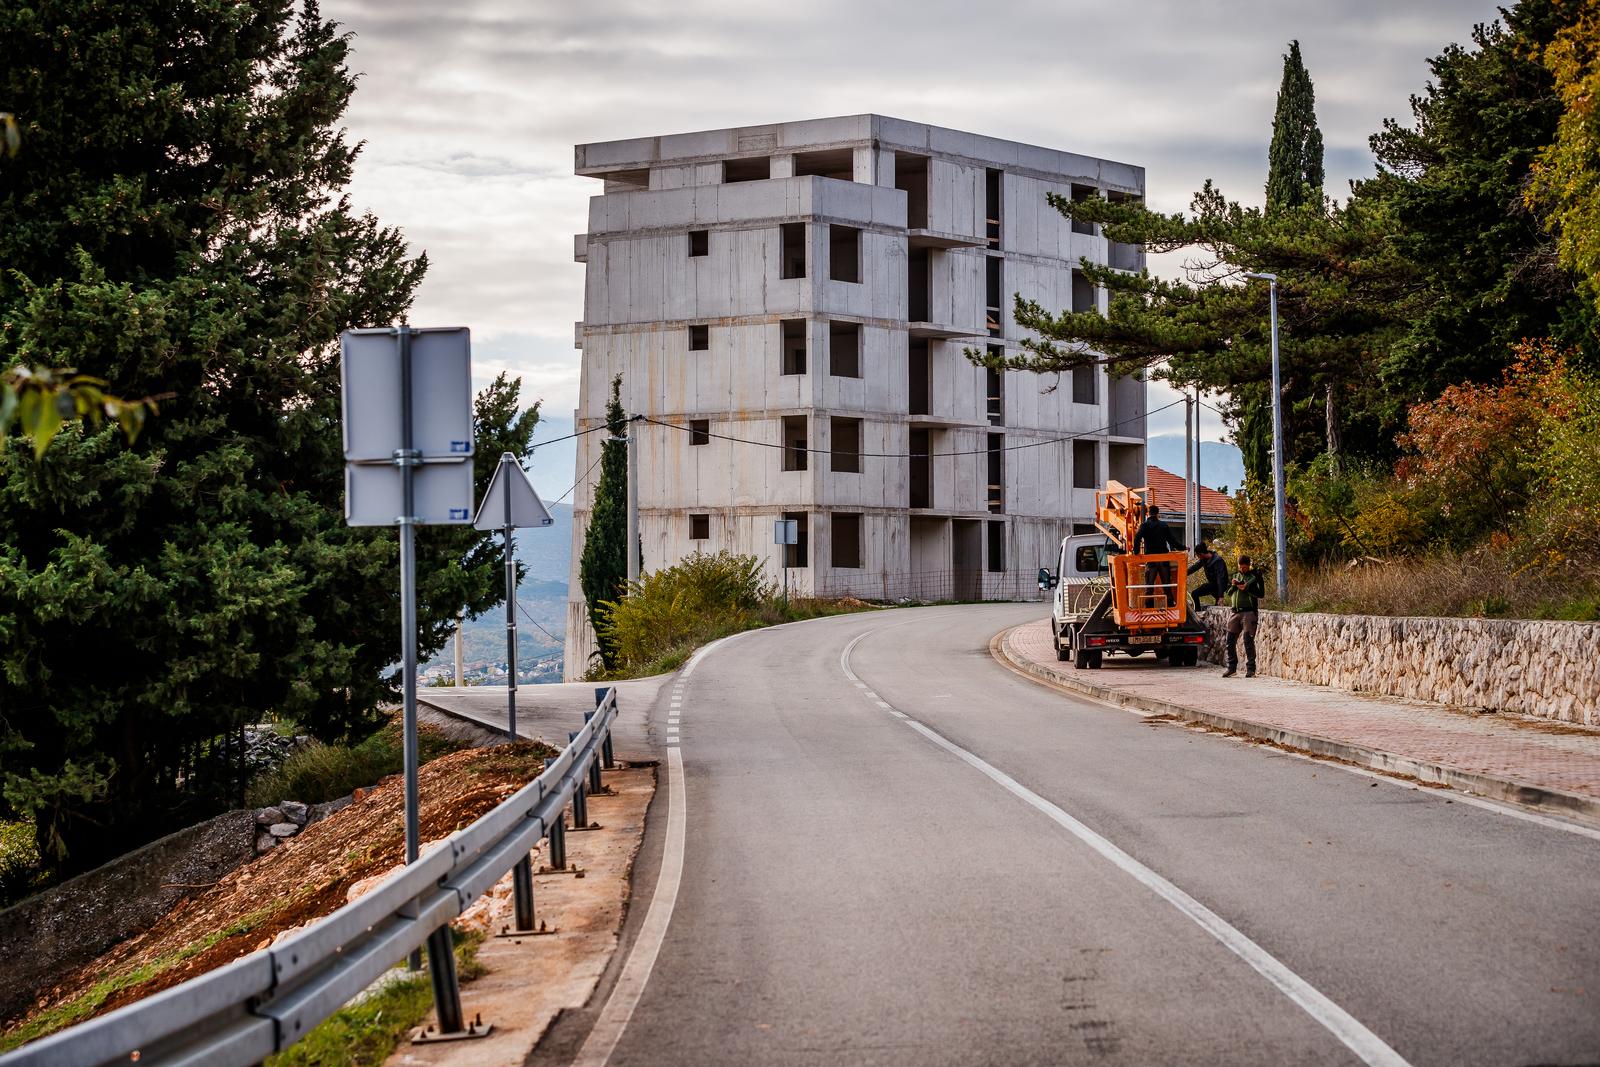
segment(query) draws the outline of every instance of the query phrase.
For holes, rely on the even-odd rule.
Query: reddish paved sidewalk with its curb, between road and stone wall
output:
[[[1058,662],[1050,621],[994,645],[1013,667],[1123,707],[1178,715],[1382,771],[1414,774],[1600,824],[1600,731],[1522,715],[1478,715],[1282,678],[1224,678],[1107,656],[1099,670]]]

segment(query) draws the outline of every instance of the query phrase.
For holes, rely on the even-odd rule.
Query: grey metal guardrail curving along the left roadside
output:
[[[430,937],[448,945],[450,920],[514,869],[517,923],[530,928],[528,853],[549,837],[552,867],[566,867],[566,805],[574,805],[574,814],[586,811],[587,793],[600,785],[600,765],[613,766],[616,715],[611,688],[539,777],[358,901],[270,949],[24,1045],[0,1056],[0,1067],[259,1064],[302,1038]],[[582,814],[579,821],[587,822]],[[440,933],[445,939],[438,939]],[[434,989],[440,1029],[450,1032],[461,1029],[461,1005],[454,957],[448,949],[445,955],[448,963],[434,968]],[[448,989],[440,989],[440,971],[448,971]],[[448,1021],[451,1011],[454,1025]]]

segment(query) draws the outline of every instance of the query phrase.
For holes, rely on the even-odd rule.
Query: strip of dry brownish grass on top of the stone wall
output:
[[[1291,611],[1600,621],[1594,560],[1488,549],[1302,568],[1291,573],[1290,590]]]

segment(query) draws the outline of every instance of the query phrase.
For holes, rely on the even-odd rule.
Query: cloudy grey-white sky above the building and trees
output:
[[[323,13],[355,35],[355,202],[432,262],[411,320],[472,326],[480,376],[510,370],[570,419],[573,234],[600,192],[571,173],[578,142],[878,112],[1139,163],[1158,210],[1184,210],[1206,178],[1259,203],[1298,38],[1339,195],[1371,171],[1368,134],[1408,117],[1427,59],[1496,5],[325,0]],[[1152,406],[1171,395],[1155,392]],[[1174,429],[1181,408],[1150,432]],[[1214,416],[1205,429],[1221,435]],[[534,462],[541,493],[571,482],[571,461],[560,467]]]

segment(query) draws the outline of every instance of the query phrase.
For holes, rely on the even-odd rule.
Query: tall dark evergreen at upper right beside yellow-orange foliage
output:
[[[1557,141],[1562,99],[1539,56],[1582,5],[1522,0],[1504,21],[1451,45],[1411,98],[1414,123],[1371,138],[1378,176],[1357,195],[1386,202],[1422,296],[1382,374],[1403,402],[1462,381],[1496,381],[1523,338],[1554,336],[1597,355],[1595,309],[1525,205],[1533,163]]]

